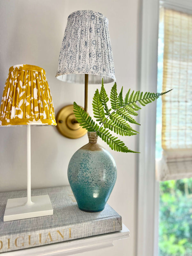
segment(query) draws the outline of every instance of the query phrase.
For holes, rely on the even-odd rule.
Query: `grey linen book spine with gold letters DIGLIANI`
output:
[[[0,252],[9,252],[45,244],[64,242],[120,230],[122,230],[122,218],[117,215],[113,218],[77,223],[71,226],[10,234],[0,236]]]

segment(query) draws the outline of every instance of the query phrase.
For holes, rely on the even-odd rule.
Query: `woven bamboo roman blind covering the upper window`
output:
[[[165,9],[160,180],[192,177],[192,15]]]

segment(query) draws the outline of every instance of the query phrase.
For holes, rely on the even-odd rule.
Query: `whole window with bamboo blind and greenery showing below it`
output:
[[[158,91],[174,88],[157,102],[157,174],[167,180],[159,189],[158,255],[188,256],[192,179],[183,178],[192,177],[192,15],[162,7],[158,41]]]

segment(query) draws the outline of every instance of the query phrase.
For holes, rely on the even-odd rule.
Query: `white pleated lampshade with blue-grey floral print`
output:
[[[56,77],[64,82],[89,84],[114,82],[115,70],[108,19],[99,12],[76,11],[69,15]]]

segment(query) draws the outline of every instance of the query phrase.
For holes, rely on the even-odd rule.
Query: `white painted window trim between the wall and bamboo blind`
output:
[[[192,12],[191,0],[164,0],[166,7]],[[140,20],[140,91],[157,90],[159,0],[142,0]],[[152,104],[152,103],[151,103]],[[158,255],[159,183],[155,180],[156,104],[140,115],[137,256]]]

